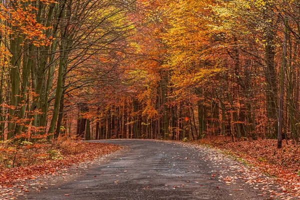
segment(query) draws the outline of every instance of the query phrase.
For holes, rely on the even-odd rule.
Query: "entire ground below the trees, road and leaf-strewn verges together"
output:
[[[7,147],[3,145],[0,147]],[[0,150],[0,199],[85,200],[105,196],[234,200],[300,196],[300,148],[284,143],[277,149],[275,140],[65,140],[9,149]],[[15,167],[7,167],[11,162],[5,162],[5,156],[14,158]]]

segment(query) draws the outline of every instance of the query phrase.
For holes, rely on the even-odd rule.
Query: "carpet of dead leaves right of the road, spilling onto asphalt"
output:
[[[300,146],[285,142],[276,148],[276,140],[259,139],[230,142],[229,138],[213,137],[193,142],[182,142],[185,146],[215,147],[216,156],[208,159],[216,162],[233,157],[240,164],[228,167],[233,175],[217,173],[227,184],[243,179],[266,199],[300,199]],[[221,152],[221,153],[219,153]],[[226,175],[224,175],[226,174]]]

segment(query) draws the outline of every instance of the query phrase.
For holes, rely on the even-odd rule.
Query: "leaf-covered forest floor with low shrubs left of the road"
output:
[[[121,147],[114,144],[87,143],[71,139],[59,140],[53,143],[41,141],[13,144],[0,143],[0,199],[15,199],[26,195],[30,190],[38,190],[42,179],[52,175],[64,176],[69,167],[78,164],[88,164],[99,156],[104,156]],[[32,186],[36,185],[36,187]]]

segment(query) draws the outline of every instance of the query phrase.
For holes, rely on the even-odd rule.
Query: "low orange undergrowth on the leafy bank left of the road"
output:
[[[54,173],[71,164],[92,160],[120,148],[114,144],[82,142],[74,138],[60,138],[51,143],[46,140],[1,141],[0,185]]]

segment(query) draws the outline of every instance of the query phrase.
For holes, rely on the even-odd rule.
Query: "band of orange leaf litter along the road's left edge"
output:
[[[31,190],[39,192],[40,188],[47,188],[48,184],[55,185],[53,175],[60,175],[66,180],[65,176],[72,176],[67,172],[69,167],[87,169],[96,158],[121,149],[114,144],[75,140],[68,140],[64,145],[67,148],[58,149],[61,152],[59,159],[43,159],[42,162],[13,168],[0,167],[0,199],[16,199],[17,196],[26,195]]]

